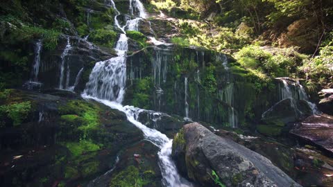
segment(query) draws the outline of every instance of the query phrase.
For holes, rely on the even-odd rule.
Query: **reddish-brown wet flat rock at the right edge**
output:
[[[290,133],[333,155],[333,116],[310,116],[298,123]]]

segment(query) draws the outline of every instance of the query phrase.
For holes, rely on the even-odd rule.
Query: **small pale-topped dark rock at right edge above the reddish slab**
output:
[[[333,115],[333,89],[323,89],[318,94],[321,98],[318,108],[325,114]]]

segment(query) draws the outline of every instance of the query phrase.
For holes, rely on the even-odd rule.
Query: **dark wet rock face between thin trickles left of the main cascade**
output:
[[[71,49],[68,55],[64,57],[65,70],[64,80],[67,79],[67,63],[69,67],[69,87],[74,86],[76,77],[80,70],[91,71],[91,62],[99,62],[114,57],[114,51],[106,51],[95,46],[92,43],[81,39],[80,37],[69,37]],[[57,89],[60,81],[60,64],[62,64],[61,55],[67,45],[67,38],[60,37],[60,42],[56,50],[47,51],[42,49],[41,64],[38,80],[42,80],[42,89]],[[85,72],[83,72],[83,75]],[[83,91],[85,87],[85,79],[79,78],[76,91]],[[83,81],[85,80],[85,81]],[[68,89],[68,88],[67,88]]]

